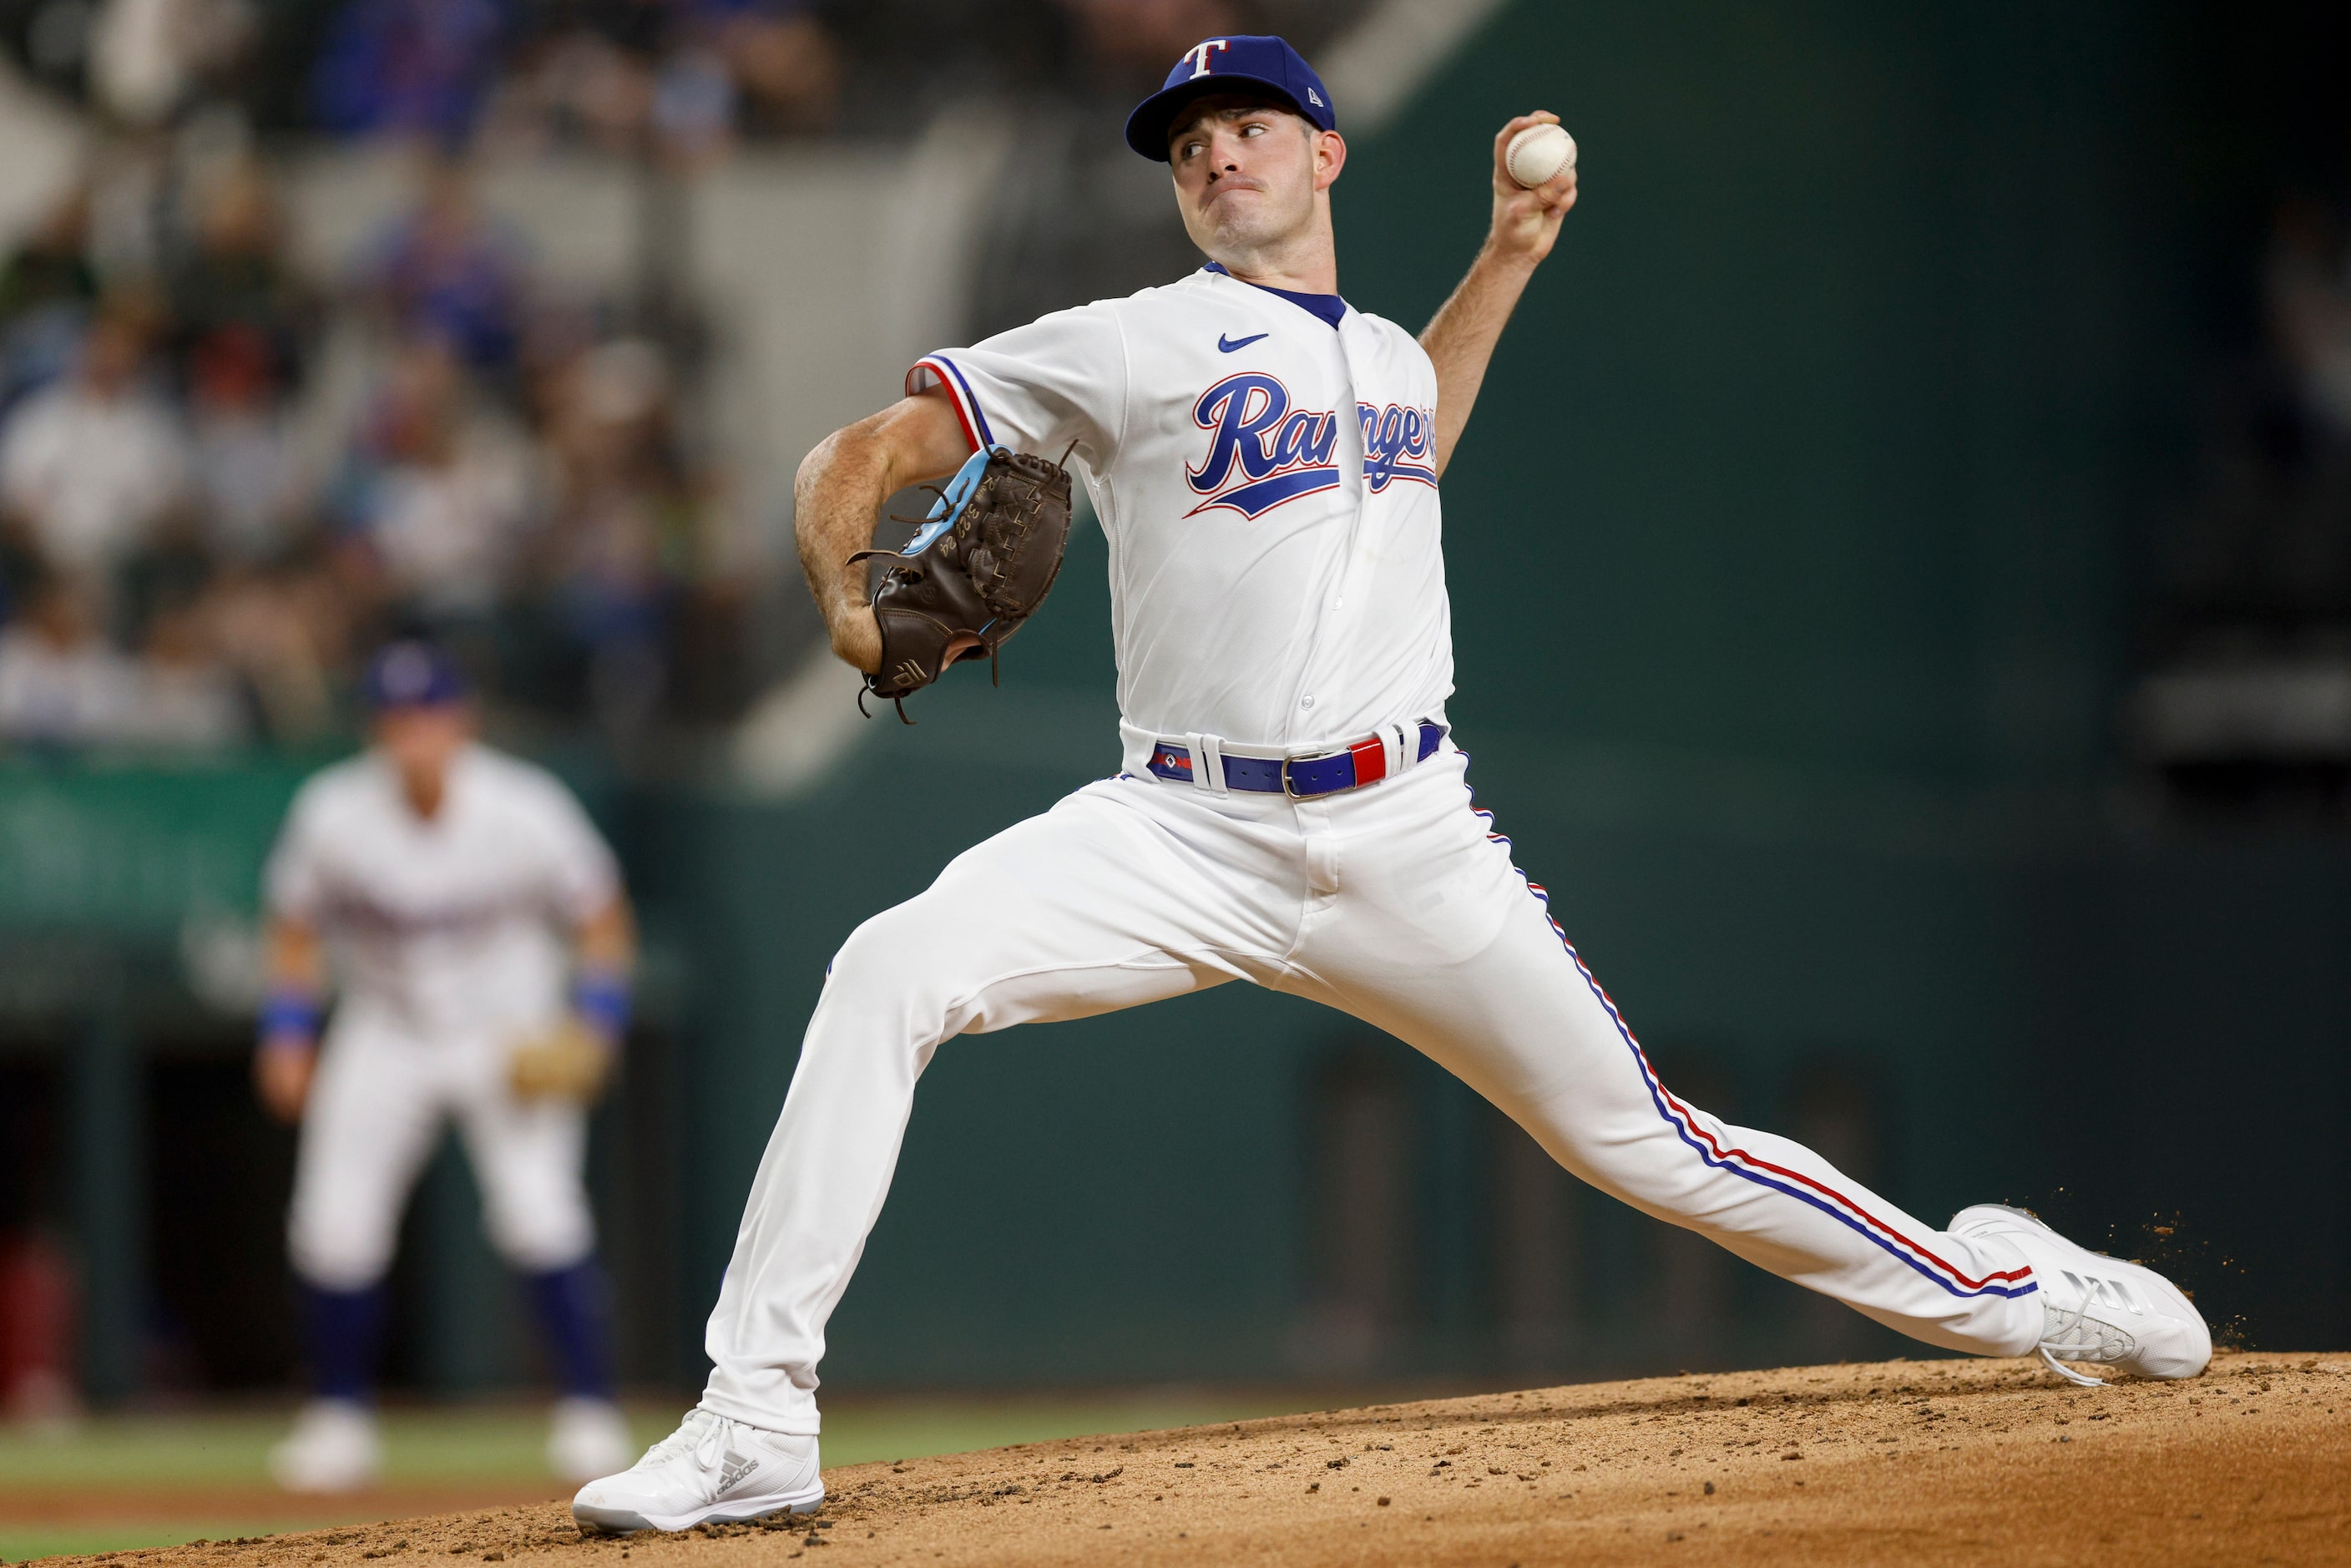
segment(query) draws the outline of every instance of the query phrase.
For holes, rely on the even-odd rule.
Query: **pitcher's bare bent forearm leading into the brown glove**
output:
[[[907,484],[945,480],[966,456],[971,440],[955,404],[931,386],[835,430],[799,461],[792,482],[799,569],[844,663],[868,675],[882,668],[882,628],[868,602],[865,562],[849,559],[872,543],[875,512]]]

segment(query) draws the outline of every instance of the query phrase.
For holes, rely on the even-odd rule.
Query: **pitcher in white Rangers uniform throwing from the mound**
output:
[[[1575,172],[1521,188],[1509,141],[1554,118],[1502,127],[1493,228],[1415,341],[1335,292],[1328,190],[1347,148],[1331,110],[1279,38],[1201,40],[1126,139],[1171,162],[1211,263],[929,355],[903,402],[802,465],[802,559],[832,646],[889,696],[926,670],[905,656],[922,635],[896,623],[900,588],[877,621],[863,567],[844,567],[877,505],[973,449],[1070,449],[1110,536],[1126,771],[957,856],[839,950],[710,1316],[703,1401],[578,1493],[585,1526],[677,1530],[823,1497],[825,1319],[940,1041],[1227,980],[1396,1034],[1582,1180],[1928,1345],[2156,1378],[2210,1359],[2158,1274],[2012,1208],[1937,1229],[1657,1081],[1472,809],[1446,726],[1436,482]],[[955,630],[947,597],[933,630],[952,649],[973,628]]]

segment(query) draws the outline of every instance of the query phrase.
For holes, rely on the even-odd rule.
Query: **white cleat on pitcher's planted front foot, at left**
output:
[[[691,1530],[769,1514],[813,1514],[825,1500],[813,1436],[764,1432],[712,1410],[689,1410],[630,1469],[590,1481],[571,1500],[581,1530]]]

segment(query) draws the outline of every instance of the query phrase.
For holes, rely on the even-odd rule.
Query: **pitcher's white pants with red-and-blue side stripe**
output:
[[[1467,757],[1347,795],[1105,778],[957,856],[849,938],[710,1314],[703,1408],[818,1429],[825,1319],[882,1213],[943,1039],[1253,980],[1415,1046],[1561,1166],[1944,1349],[2027,1354],[2031,1269],[1810,1150],[1674,1098],[1488,832]]]

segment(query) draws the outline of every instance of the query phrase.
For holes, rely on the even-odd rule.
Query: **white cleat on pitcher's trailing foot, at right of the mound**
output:
[[[2193,1378],[2212,1363],[2212,1331],[2203,1314],[2179,1286],[2144,1265],[2076,1246],[2005,1204],[1961,1208],[1951,1215],[1951,1234],[1998,1237],[2024,1253],[2041,1286],[2041,1359],[2069,1382],[2102,1385],[2064,1361],[2092,1361],[2139,1378]]]

